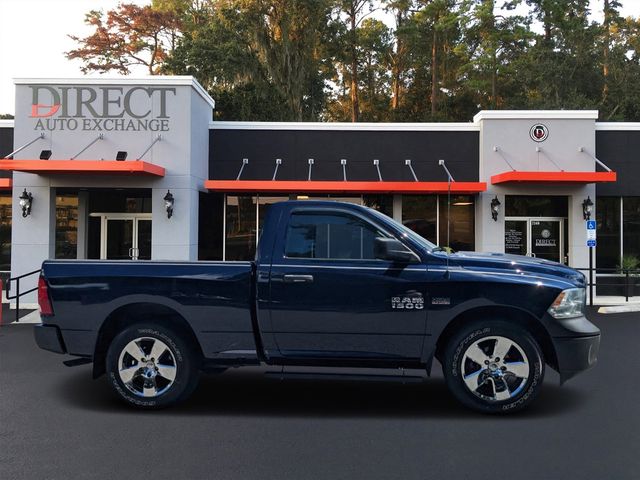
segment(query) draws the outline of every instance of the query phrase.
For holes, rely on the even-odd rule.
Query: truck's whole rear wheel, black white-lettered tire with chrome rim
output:
[[[120,332],[109,345],[106,369],[116,394],[128,404],[146,409],[186,399],[196,388],[200,373],[198,357],[189,342],[154,323],[132,325]]]

